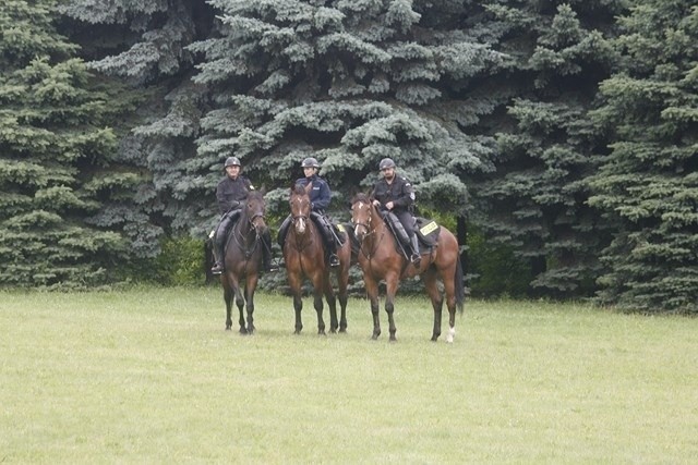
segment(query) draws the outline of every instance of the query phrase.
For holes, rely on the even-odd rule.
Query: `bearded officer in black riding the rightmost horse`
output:
[[[414,234],[414,218],[411,212],[414,205],[414,191],[407,179],[395,174],[395,168],[393,159],[384,158],[381,160],[378,169],[383,172],[383,178],[375,183],[371,196],[374,199],[373,205],[392,212],[398,218],[412,247],[410,261],[416,267],[419,267],[421,257],[419,255],[418,237]]]

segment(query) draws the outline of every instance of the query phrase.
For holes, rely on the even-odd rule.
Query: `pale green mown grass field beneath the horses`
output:
[[[697,319],[477,301],[432,343],[398,296],[392,344],[381,316],[318,336],[306,298],[294,335],[258,295],[243,336],[216,287],[0,292],[0,463],[696,463]]]

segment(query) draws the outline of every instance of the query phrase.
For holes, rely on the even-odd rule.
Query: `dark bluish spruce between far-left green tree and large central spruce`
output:
[[[118,123],[116,159],[147,175],[132,189],[128,208],[110,205],[100,221],[118,220],[137,244],[134,252],[152,257],[164,235],[186,231],[212,204],[210,196],[186,197],[184,174],[196,154],[207,95],[191,82],[196,57],[186,46],[212,34],[213,9],[204,0],[69,0],[61,12],[88,65],[111,86],[129,86],[120,88],[121,97],[139,102]]]

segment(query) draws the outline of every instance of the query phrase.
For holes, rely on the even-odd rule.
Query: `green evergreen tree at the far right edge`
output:
[[[616,225],[599,301],[698,311],[698,7],[640,0],[621,19],[623,70],[594,113],[613,137],[590,204]]]

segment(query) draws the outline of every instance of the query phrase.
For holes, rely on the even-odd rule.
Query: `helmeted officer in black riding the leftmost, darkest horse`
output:
[[[220,221],[216,228],[214,236],[214,259],[215,265],[210,269],[213,274],[220,274],[224,271],[224,245],[232,225],[240,217],[248,193],[254,191],[254,186],[246,176],[240,175],[242,167],[238,157],[228,157],[224,164],[226,178],[224,178],[216,188],[216,199],[220,211]],[[267,231],[262,236],[263,242],[263,269],[264,271],[275,271],[272,268],[272,237]]]

